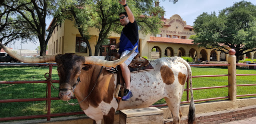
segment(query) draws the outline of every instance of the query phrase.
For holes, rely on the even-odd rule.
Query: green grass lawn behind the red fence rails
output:
[[[220,75],[227,74],[227,67],[191,67],[192,75]],[[44,74],[47,73],[47,68],[39,68],[37,66],[0,66],[0,81],[24,81],[24,80],[45,80]],[[254,69],[236,69],[237,74],[256,74]],[[237,76],[237,84],[256,84],[256,76]],[[52,79],[58,80],[56,66],[52,69]],[[207,77],[193,78],[193,88],[223,86],[227,85],[227,77]],[[53,84],[58,87],[57,83]],[[6,87],[9,86],[9,87]],[[237,95],[255,94],[256,86],[237,87]],[[0,84],[0,100],[5,99],[25,99],[25,98],[44,98],[46,84]],[[194,100],[224,97],[227,96],[228,88],[193,90]],[[58,91],[51,88],[51,97],[57,97]],[[186,100],[185,92],[181,101]],[[190,95],[189,95],[190,97]],[[190,99],[189,99],[190,100]],[[76,100],[70,102],[76,103]],[[155,104],[162,104],[164,100],[159,100]],[[79,112],[79,106],[70,106],[61,100],[51,101],[51,113]],[[21,103],[0,103],[0,118],[27,116],[27,115],[42,115],[45,112],[45,101],[39,102],[21,102]]]

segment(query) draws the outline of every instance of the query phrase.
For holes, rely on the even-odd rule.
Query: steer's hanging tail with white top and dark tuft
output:
[[[191,101],[189,104],[189,112],[188,112],[188,120],[187,123],[188,124],[193,124],[195,121],[195,107],[194,107],[194,100],[193,100],[193,90],[192,90],[192,71],[191,68],[189,66],[189,64],[183,60],[182,58],[178,57],[178,62],[183,63],[186,67],[187,67],[187,72],[188,72],[188,79],[189,79],[189,85],[190,85],[190,95],[191,95]]]

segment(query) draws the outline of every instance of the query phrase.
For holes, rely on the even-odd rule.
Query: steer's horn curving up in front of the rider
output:
[[[100,59],[85,56],[85,64],[93,64],[93,65],[99,65],[99,66],[105,66],[105,67],[117,66],[123,63],[126,59],[128,59],[129,56],[134,52],[136,48],[137,46],[135,46],[132,49],[132,51],[130,51],[127,55],[115,61],[106,61],[106,60],[100,60]]]

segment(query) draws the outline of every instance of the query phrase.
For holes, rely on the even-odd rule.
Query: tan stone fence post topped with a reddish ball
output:
[[[236,57],[235,57],[235,50],[230,49],[228,51],[229,56],[227,57],[227,63],[230,64],[227,66],[228,69],[228,96],[230,97],[229,100],[236,101]]]

